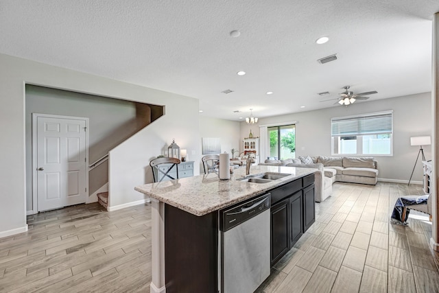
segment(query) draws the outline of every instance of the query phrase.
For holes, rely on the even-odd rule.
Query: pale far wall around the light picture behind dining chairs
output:
[[[200,137],[217,137],[221,142],[221,152],[227,152],[232,157],[231,149],[242,149],[242,139],[240,136],[239,121],[230,121],[212,117],[200,116]],[[200,149],[202,141],[199,141]],[[189,150],[189,160],[193,158]],[[239,154],[235,153],[235,156]],[[202,154],[200,155],[201,161]],[[200,173],[203,173],[203,166],[200,163]]]

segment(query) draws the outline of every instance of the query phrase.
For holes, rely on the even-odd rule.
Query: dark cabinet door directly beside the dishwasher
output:
[[[271,208],[272,265],[289,250],[289,198]]]

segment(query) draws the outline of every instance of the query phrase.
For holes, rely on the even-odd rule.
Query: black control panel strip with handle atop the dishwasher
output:
[[[246,200],[236,207],[221,211],[220,229],[226,232],[267,209],[270,209],[270,194]]]

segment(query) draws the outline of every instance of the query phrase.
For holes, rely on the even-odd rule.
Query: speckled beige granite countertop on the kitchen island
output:
[[[139,185],[134,189],[173,207],[201,216],[312,174],[316,169],[267,165],[255,165],[250,168],[250,176],[265,172],[290,175],[269,183],[249,183],[239,181],[246,176],[246,168],[240,167],[230,174],[230,180],[219,180],[217,174],[211,173]]]

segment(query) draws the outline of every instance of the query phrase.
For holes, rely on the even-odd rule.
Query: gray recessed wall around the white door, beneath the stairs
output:
[[[27,84],[25,102],[27,166],[32,166],[32,113],[88,118],[88,165],[151,121],[151,108],[147,104],[43,86]],[[88,176],[91,195],[108,182],[108,162],[91,169]],[[28,211],[33,208],[31,167],[26,168],[26,206]]]

